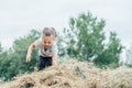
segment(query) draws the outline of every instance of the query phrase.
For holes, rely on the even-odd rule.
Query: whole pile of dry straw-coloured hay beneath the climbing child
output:
[[[68,61],[41,72],[15,77],[0,88],[132,88],[132,69],[99,69],[92,63]]]

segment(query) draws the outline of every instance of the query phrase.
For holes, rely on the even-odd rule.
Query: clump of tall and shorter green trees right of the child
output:
[[[64,29],[65,40],[68,38],[67,54],[80,61],[94,61],[97,65],[118,63],[122,45],[114,32],[110,33],[106,44],[105,24],[90,12],[70,18],[69,29]]]

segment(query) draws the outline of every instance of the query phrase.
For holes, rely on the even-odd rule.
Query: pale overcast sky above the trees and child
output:
[[[0,42],[8,48],[32,29],[62,30],[87,11],[106,20],[106,33],[116,31],[124,45],[132,43],[132,0],[0,0]]]

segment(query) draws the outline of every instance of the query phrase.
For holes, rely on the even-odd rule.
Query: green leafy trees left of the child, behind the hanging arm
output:
[[[40,32],[32,30],[26,36],[14,41],[12,48],[0,55],[0,77],[4,80],[23,74],[25,72],[33,72],[36,65],[37,51],[32,53],[31,63],[26,63],[26,52],[29,45],[40,37]]]

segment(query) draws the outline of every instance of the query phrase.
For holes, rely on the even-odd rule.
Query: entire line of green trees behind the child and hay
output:
[[[98,67],[119,66],[123,46],[116,32],[110,32],[107,40],[105,25],[105,20],[92,16],[90,12],[70,18],[69,28],[57,30],[58,55],[94,62]],[[29,45],[40,35],[41,32],[31,30],[28,35],[15,40],[10,50],[4,52],[0,46],[0,77],[3,80],[34,70],[38,59],[37,48],[31,63],[25,63],[25,57]]]

